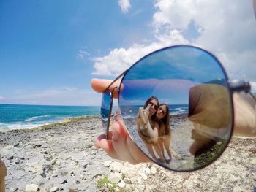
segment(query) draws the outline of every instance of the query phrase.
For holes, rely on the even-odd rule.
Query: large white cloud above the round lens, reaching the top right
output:
[[[231,79],[256,82],[256,22],[252,1],[158,0],[153,15],[155,42],[111,50],[94,58],[94,74],[117,75],[143,55],[162,47],[189,44],[204,47],[222,62]],[[182,35],[195,23],[198,37]]]

